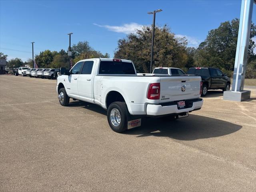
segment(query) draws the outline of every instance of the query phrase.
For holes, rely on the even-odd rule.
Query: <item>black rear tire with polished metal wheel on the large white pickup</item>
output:
[[[114,123],[111,120],[111,113],[114,112],[114,110],[118,110],[119,114],[120,114],[120,121],[117,121],[117,123],[119,123],[117,126],[114,125]],[[113,110],[113,111],[112,111]],[[127,130],[127,116],[128,116],[129,112],[126,106],[125,102],[113,102],[109,105],[108,107],[108,112],[107,112],[107,118],[108,118],[108,124],[110,126],[110,128],[114,131],[114,132],[124,132],[125,130]]]

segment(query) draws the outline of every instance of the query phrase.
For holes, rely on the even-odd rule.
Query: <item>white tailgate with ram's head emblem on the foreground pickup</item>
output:
[[[200,97],[200,76],[160,77],[159,103]]]

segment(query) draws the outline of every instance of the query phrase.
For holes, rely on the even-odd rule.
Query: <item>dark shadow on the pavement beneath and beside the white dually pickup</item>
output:
[[[69,107],[82,107],[106,116],[107,112],[96,104],[82,101],[70,102]],[[106,123],[107,120],[106,120]],[[197,140],[220,137],[240,130],[242,126],[227,121],[189,114],[187,118],[175,121],[162,118],[142,118],[142,126],[126,130],[122,134],[137,137],[157,136],[176,140]]]

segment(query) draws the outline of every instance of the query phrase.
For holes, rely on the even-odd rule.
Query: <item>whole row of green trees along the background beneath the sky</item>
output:
[[[238,39],[239,19],[222,22],[216,29],[210,30],[204,42],[198,48],[188,47],[186,37],[177,37],[167,25],[156,26],[154,39],[154,64],[152,68],[177,67],[185,72],[194,66],[216,67],[228,76],[232,76],[236,56],[236,44]],[[248,48],[248,63],[246,78],[256,78],[256,47],[253,37],[256,36],[256,26],[252,24],[250,43]],[[135,33],[128,34],[118,40],[118,47],[114,58],[132,60],[138,72],[148,73],[150,70],[152,27],[144,26]],[[109,58],[109,54],[90,47],[89,42],[78,42],[71,47],[73,65],[87,58]],[[45,50],[35,56],[38,67],[58,68],[69,67],[69,57],[65,50],[60,52]],[[20,66],[21,59],[8,61],[10,66]],[[32,60],[27,64],[32,67]]]

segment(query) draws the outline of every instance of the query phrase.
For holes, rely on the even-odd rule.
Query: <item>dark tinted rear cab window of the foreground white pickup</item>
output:
[[[134,75],[133,64],[122,61],[101,61],[99,74],[127,74]]]

